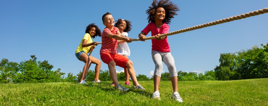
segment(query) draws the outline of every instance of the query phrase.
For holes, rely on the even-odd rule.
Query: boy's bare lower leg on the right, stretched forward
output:
[[[126,66],[128,68],[128,72],[129,72],[129,75],[130,75],[130,78],[133,82],[133,85],[134,86],[137,86],[139,85],[138,81],[137,81],[137,78],[136,78],[136,74],[135,74],[135,70],[133,68],[133,63],[131,60],[129,60],[127,63],[126,63]]]

